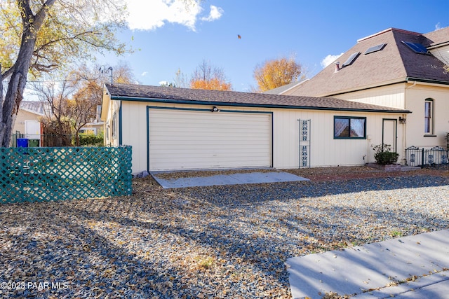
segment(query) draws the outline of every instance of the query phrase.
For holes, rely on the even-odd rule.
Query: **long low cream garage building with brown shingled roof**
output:
[[[138,173],[363,165],[374,162],[370,145],[382,143],[384,120],[408,113],[330,97],[114,83],[105,85],[101,119],[105,144],[133,146]]]

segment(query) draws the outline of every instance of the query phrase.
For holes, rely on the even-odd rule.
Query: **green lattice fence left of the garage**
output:
[[[130,194],[130,146],[0,148],[0,203]]]

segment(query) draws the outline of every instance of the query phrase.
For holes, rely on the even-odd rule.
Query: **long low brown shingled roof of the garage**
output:
[[[140,102],[169,102],[182,104],[211,104],[222,106],[256,106],[290,109],[337,111],[367,111],[410,113],[385,106],[363,104],[332,97],[293,97],[253,92],[196,90],[135,84],[105,84],[112,100]]]

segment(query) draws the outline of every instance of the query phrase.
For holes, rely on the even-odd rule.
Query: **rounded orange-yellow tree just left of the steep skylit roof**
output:
[[[293,83],[301,74],[302,67],[294,57],[267,60],[254,70],[254,78],[261,92]]]

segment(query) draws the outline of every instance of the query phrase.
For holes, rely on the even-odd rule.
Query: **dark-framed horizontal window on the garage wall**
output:
[[[366,118],[334,116],[334,139],[366,139]]]

